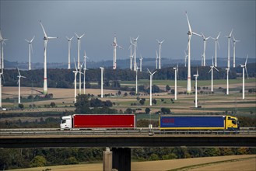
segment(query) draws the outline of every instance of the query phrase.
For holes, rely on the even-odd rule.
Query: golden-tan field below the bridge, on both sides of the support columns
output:
[[[13,169],[13,171],[41,171],[51,169],[58,170],[102,170],[102,163],[79,164],[69,166],[47,166],[29,169]],[[227,155],[219,157],[204,157],[204,158],[191,158],[191,159],[172,159],[160,160],[149,162],[132,162],[132,171],[142,170],[233,170],[233,171],[254,171],[256,169],[256,155]]]

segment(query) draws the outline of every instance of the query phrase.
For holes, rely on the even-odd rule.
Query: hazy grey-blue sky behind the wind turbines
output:
[[[32,62],[44,62],[44,33],[49,37],[47,62],[68,62],[68,40],[73,37],[71,56],[77,61],[77,39],[81,39],[80,61],[86,50],[89,61],[113,60],[114,33],[117,60],[128,59],[130,37],[139,36],[137,58],[155,58],[158,40],[162,44],[161,58],[184,59],[188,44],[188,23],[196,33],[219,37],[218,58],[227,58],[228,40],[233,29],[237,42],[237,58],[255,58],[255,0],[251,1],[14,1],[0,0],[0,29],[9,39],[4,45],[8,61],[28,62],[28,44],[33,40]],[[230,47],[233,56],[233,47]],[[202,37],[191,38],[191,59],[201,59]],[[215,55],[214,40],[209,39],[206,59]]]

